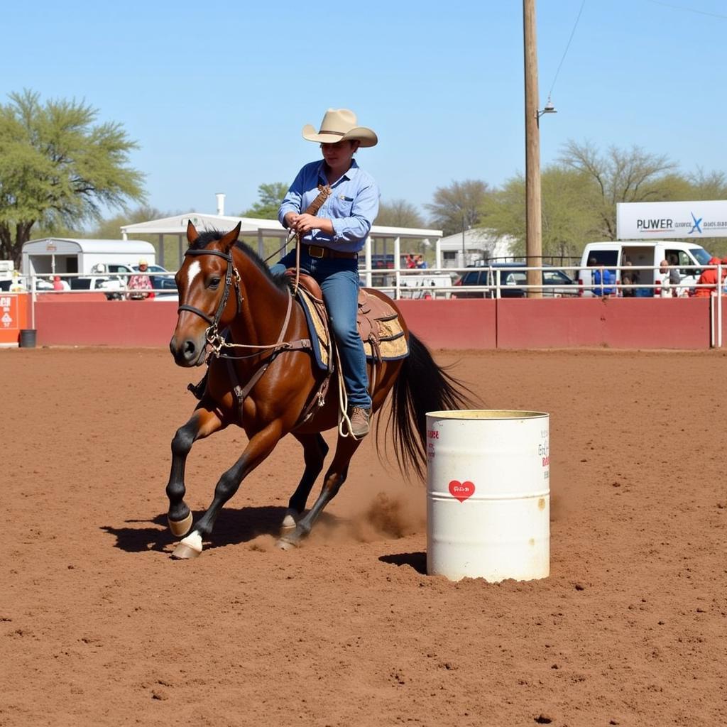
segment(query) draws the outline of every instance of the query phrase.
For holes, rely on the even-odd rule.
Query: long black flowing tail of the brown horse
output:
[[[411,332],[409,356],[393,386],[387,430],[393,428],[396,461],[403,473],[425,476],[427,411],[472,409],[475,396],[438,366],[429,349]]]

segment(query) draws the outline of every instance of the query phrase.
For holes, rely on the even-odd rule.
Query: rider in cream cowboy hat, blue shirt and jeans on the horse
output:
[[[321,145],[323,158],[298,172],[278,219],[300,235],[300,266],[321,286],[341,357],[351,433],[361,438],[369,433],[371,396],[364,344],[356,327],[358,251],[379,212],[379,188],[353,155],[359,147],[376,145],[378,138],[371,129],[358,126],[348,108],[329,108],[320,130],[307,124],[302,135]],[[332,192],[313,217],[304,211],[318,196],[318,185],[330,185]],[[294,265],[292,250],[272,270],[279,273]]]

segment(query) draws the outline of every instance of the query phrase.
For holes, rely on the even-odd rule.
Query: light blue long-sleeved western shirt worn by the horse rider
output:
[[[284,225],[288,212],[300,214],[308,209],[318,196],[318,185],[329,184],[324,170],[324,160],[306,164],[294,182],[278,210],[278,220]],[[325,217],[333,223],[334,234],[321,230],[305,233],[303,241],[309,245],[330,247],[340,252],[358,252],[364,247],[371,225],[379,214],[379,187],[370,174],[360,169],[356,159],[350,169],[332,185],[332,192],[316,217]]]

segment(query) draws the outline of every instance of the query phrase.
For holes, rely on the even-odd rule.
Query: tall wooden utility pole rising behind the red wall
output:
[[[538,55],[535,36],[535,0],[523,0],[525,57],[525,249],[527,265],[542,265],[540,210],[540,129],[538,113]],[[528,271],[528,284],[542,286],[542,272]],[[528,290],[529,298],[542,298],[542,290]]]

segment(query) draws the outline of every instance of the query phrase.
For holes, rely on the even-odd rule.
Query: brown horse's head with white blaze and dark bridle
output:
[[[179,290],[177,327],[169,342],[177,366],[204,364],[206,332],[224,328],[238,312],[240,290],[232,262],[232,248],[240,234],[234,230],[200,235],[187,225],[189,249],[174,280]],[[230,288],[234,287],[234,291]]]

